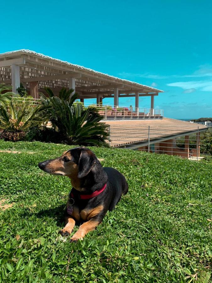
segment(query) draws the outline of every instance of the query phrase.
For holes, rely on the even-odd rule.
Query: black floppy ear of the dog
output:
[[[82,150],[79,157],[79,164],[78,164],[79,171],[77,177],[80,179],[88,175],[94,164],[95,164],[94,153],[92,153],[92,151],[89,149]]]

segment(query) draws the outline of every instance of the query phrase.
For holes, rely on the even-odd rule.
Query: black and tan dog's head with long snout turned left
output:
[[[58,158],[39,163],[38,166],[49,174],[81,179],[89,174],[95,163],[99,161],[90,149],[75,147]]]

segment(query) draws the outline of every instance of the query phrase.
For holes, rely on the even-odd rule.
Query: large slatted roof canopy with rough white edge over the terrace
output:
[[[0,83],[12,83],[13,64],[20,66],[20,81],[26,84],[26,88],[30,88],[30,82],[38,81],[39,91],[48,86],[59,92],[62,87],[69,88],[70,78],[74,78],[75,90],[83,98],[95,98],[98,94],[111,97],[114,88],[118,88],[119,95],[127,96],[136,92],[141,95],[163,92],[25,49],[0,54]]]

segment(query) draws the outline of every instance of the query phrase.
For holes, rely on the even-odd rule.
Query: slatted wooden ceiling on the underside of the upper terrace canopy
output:
[[[65,72],[80,72],[82,74],[81,80],[79,80],[78,86],[92,86],[100,84],[120,84],[123,83],[124,87],[123,90],[127,89],[140,89],[141,86],[145,88],[147,91],[156,91],[162,92],[160,90],[143,86],[141,84],[131,82],[128,80],[119,79],[107,74],[103,74],[101,72],[96,72],[92,69],[85,68],[83,66],[70,64],[68,62],[64,62],[58,59],[54,59],[48,56],[45,56],[40,53],[36,53],[30,50],[18,50],[14,52],[2,53],[0,54],[0,61],[4,60],[5,58],[8,59],[15,59],[15,58],[25,58],[26,65],[24,68],[21,68],[21,78],[28,78],[33,76],[43,76],[43,75],[58,75],[58,74],[65,74]],[[0,69],[0,80],[11,80],[11,70],[8,68],[1,68]],[[48,82],[49,84],[49,82]],[[44,86],[45,84],[43,84]],[[61,85],[61,83],[59,84]],[[40,83],[42,86],[42,83]],[[54,84],[49,84],[50,87],[54,87]]]

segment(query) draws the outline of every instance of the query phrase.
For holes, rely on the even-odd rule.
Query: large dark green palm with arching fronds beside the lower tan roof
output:
[[[52,129],[61,142],[75,145],[108,146],[108,125],[101,123],[102,116],[95,108],[84,108],[74,103],[77,93],[63,88],[59,96],[54,96],[51,89],[46,88],[50,97],[41,95],[44,119],[51,122]]]

